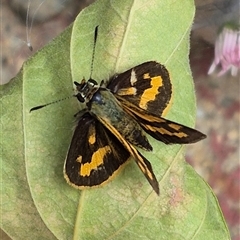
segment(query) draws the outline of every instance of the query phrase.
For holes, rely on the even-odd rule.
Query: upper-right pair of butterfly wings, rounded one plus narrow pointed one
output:
[[[125,111],[155,139],[166,144],[187,144],[202,140],[201,132],[160,117],[171,105],[172,85],[167,69],[157,62],[145,62],[113,77],[107,87]]]

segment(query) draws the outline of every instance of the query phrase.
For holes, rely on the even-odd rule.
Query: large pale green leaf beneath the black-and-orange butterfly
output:
[[[191,1],[100,0],[37,52],[1,87],[2,228],[13,239],[230,239],[209,186],[184,161],[183,147],[149,137],[160,197],[130,161],[110,183],[78,191],[63,163],[79,110],[72,82],[91,72],[108,79],[156,60],[170,72],[174,95],[166,118],[193,126],[195,98],[188,64]],[[81,137],[81,136],[79,136]]]

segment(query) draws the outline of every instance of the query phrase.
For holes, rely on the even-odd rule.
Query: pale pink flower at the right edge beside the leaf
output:
[[[240,69],[240,30],[225,26],[215,42],[215,56],[208,70],[211,74],[217,66],[221,67],[218,76],[231,69],[232,76],[236,76]]]

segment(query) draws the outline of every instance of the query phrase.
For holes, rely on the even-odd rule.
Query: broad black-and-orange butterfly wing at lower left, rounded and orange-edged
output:
[[[129,157],[119,140],[97,119],[85,113],[74,131],[64,176],[76,188],[97,186],[109,180]]]

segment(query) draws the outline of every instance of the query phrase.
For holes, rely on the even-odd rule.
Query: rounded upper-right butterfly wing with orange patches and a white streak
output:
[[[142,63],[110,79],[109,88],[124,99],[150,113],[162,115],[170,106],[172,84],[167,69],[160,63]],[[157,106],[157,108],[156,108]]]

